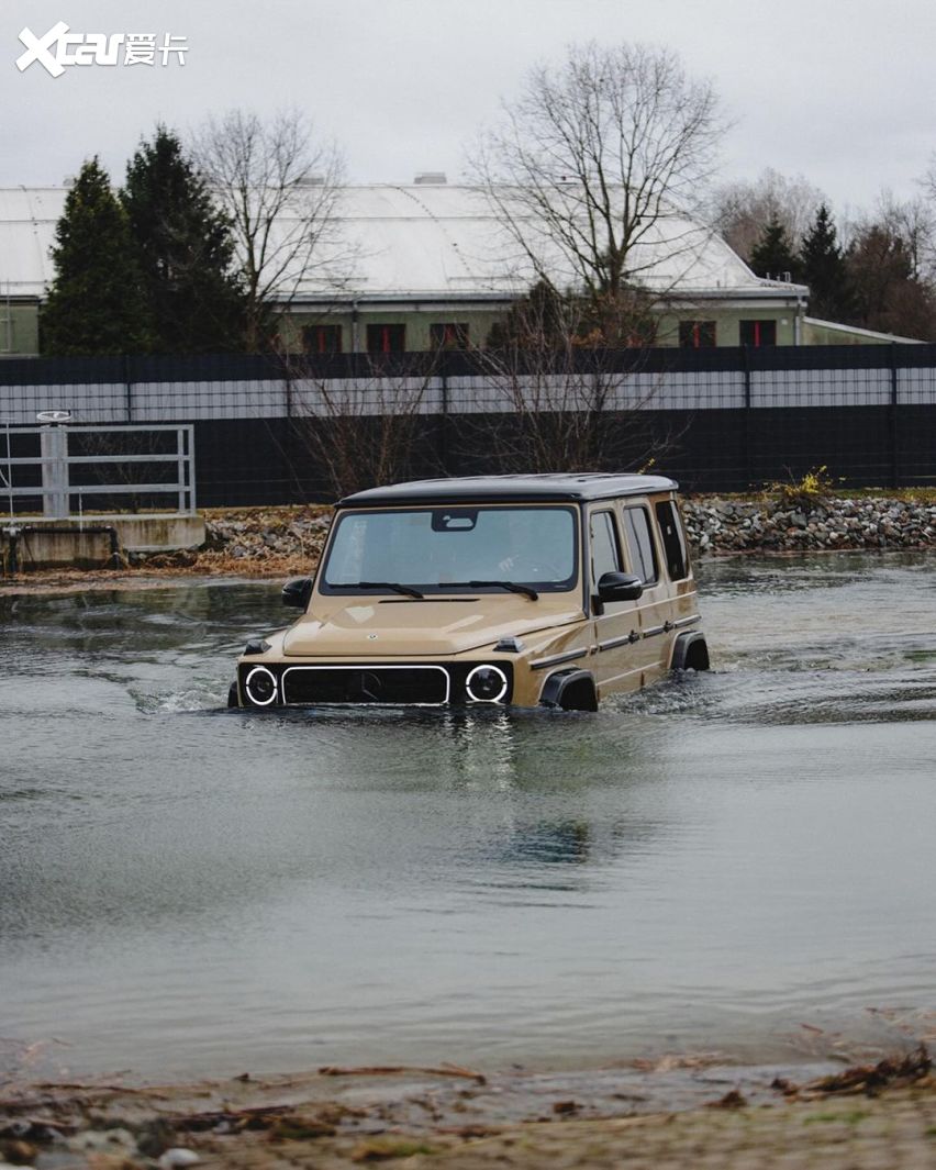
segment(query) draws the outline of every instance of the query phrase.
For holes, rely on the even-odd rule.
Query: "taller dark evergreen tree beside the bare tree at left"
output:
[[[153,349],[240,349],[243,300],[229,221],[165,126],[157,128],[151,143],[140,143],[128,164],[121,200],[137,245]]]

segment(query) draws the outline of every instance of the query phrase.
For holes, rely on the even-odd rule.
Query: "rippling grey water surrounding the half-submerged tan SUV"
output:
[[[277,584],[0,598],[0,1073],[936,1034],[934,570],[708,563],[715,669],[597,715],[227,711]]]

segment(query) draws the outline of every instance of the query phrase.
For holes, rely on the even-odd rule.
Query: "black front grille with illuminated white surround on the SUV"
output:
[[[285,703],[413,703],[449,700],[440,666],[292,666],[283,672]]]

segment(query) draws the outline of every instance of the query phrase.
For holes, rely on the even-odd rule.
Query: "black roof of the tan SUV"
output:
[[[663,475],[619,475],[589,472],[581,475],[466,475],[454,480],[413,480],[384,488],[356,491],[338,501],[339,508],[359,504],[509,503],[512,501],[607,500],[648,491],[672,491],[675,480]]]

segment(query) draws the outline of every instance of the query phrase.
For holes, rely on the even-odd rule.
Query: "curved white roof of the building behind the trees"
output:
[[[309,198],[315,191],[309,188]],[[43,295],[54,276],[50,248],[67,193],[66,187],[0,188],[0,297]],[[281,230],[292,227],[295,215],[287,212]],[[300,300],[507,300],[531,283],[529,263],[475,187],[347,186],[338,198],[335,228],[340,259],[330,271],[318,267],[301,275]],[[646,284],[677,294],[806,292],[801,285],[759,280],[722,239],[679,215],[654,225],[640,263]],[[557,283],[572,283],[558,257],[555,268]]]

